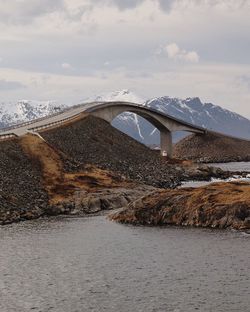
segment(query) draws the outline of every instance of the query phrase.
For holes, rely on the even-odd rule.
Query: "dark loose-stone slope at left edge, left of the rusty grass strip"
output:
[[[40,163],[26,155],[18,140],[0,143],[0,224],[41,215],[48,204]]]

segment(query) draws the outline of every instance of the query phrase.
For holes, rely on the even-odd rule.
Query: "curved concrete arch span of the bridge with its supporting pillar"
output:
[[[203,128],[193,126],[182,120],[173,118],[172,116],[165,115],[157,110],[128,102],[105,102],[97,104],[87,110],[92,115],[102,118],[109,122],[113,121],[115,117],[124,113],[135,113],[142,118],[149,121],[160,132],[160,145],[161,155],[172,157],[173,143],[172,132],[173,131],[189,131],[194,133],[204,133]]]

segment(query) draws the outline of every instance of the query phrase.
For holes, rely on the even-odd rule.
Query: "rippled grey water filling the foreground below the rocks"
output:
[[[0,311],[250,311],[250,235],[104,216],[0,228]]]

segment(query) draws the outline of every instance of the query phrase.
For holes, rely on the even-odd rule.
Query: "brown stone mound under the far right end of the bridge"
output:
[[[217,133],[195,134],[175,145],[174,157],[200,163],[250,161],[250,141]]]

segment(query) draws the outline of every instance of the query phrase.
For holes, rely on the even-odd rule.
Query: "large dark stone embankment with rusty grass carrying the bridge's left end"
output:
[[[172,161],[84,115],[63,127],[0,143],[0,224],[43,215],[84,215],[124,207],[182,180],[229,177]]]

